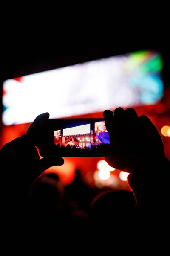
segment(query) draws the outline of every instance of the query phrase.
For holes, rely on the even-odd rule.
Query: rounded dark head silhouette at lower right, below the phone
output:
[[[90,220],[94,227],[126,229],[135,217],[136,201],[133,192],[117,190],[98,195],[91,203]]]

